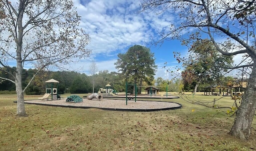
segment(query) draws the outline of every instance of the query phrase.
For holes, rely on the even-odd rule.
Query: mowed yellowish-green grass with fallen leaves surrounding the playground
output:
[[[25,96],[25,100],[38,97]],[[220,96],[189,97],[212,101]],[[164,100],[178,102],[182,108],[157,112],[26,104],[26,118],[16,117],[14,100],[13,94],[0,95],[0,151],[256,150],[256,119],[250,141],[241,141],[228,135],[234,118],[225,116],[226,109],[210,109],[182,99]],[[233,104],[230,97],[217,103],[219,106]]]

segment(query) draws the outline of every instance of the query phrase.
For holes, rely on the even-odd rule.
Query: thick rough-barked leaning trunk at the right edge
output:
[[[252,73],[248,80],[241,105],[236,112],[236,118],[230,135],[243,140],[249,140],[252,120],[256,109],[256,63],[253,65]]]

